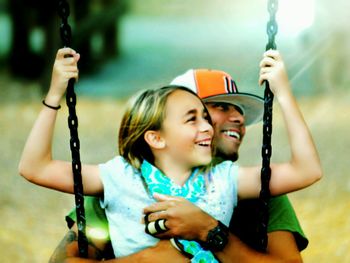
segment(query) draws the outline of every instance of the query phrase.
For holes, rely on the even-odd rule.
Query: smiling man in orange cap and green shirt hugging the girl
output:
[[[220,161],[226,159],[236,161],[246,125],[256,123],[262,118],[263,100],[252,94],[239,93],[231,76],[222,71],[189,70],[175,78],[171,84],[186,86],[198,93],[208,107],[213,121],[216,157]],[[100,240],[94,234],[102,232],[97,229],[104,229],[104,233],[108,233],[106,219],[103,219],[104,213],[96,199],[89,197],[86,200],[87,235],[90,239],[89,257],[112,258],[110,253],[106,253],[111,251],[106,238]],[[160,241],[154,248],[145,249],[125,258],[114,259],[111,262],[186,262],[188,258],[174,248],[168,241],[169,238],[181,236],[207,242],[210,241],[214,232],[226,231],[226,229],[218,229],[218,222],[210,215],[182,198],[159,196],[158,201],[145,208],[144,212],[150,222],[166,219],[168,231],[157,235],[166,239]],[[217,249],[215,255],[223,262],[301,262],[299,251],[307,246],[308,241],[304,237],[287,197],[272,198],[269,204],[267,253],[256,250],[257,240],[254,230],[259,223],[255,221],[258,218],[256,207],[256,200],[238,204],[231,221],[231,233],[228,235],[227,242]],[[72,214],[67,217],[67,222],[69,226],[74,224]],[[76,234],[74,230],[70,230],[54,252],[50,262],[61,262],[67,256],[76,256],[75,240]],[[79,262],[79,259],[75,260],[74,262]],[[84,260],[81,259],[81,262]]]

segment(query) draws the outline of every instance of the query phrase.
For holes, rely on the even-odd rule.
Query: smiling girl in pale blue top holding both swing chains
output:
[[[73,193],[71,163],[52,159],[57,110],[47,105],[57,107],[68,80],[78,78],[78,60],[79,54],[70,48],[58,51],[45,106],[19,165],[20,174],[27,180],[68,193]],[[275,60],[273,55],[264,57],[259,81],[269,81],[290,139],[291,160],[271,165],[271,194],[279,195],[313,184],[322,172],[287,76],[279,68],[283,63]],[[102,196],[117,257],[158,241],[144,233],[141,223],[143,208],[154,203],[153,193],[185,197],[225,225],[237,198],[259,195],[261,167],[238,167],[231,161],[210,165],[212,137],[206,108],[184,87],[147,90],[130,101],[119,131],[120,156],[105,164],[82,164],[81,170],[84,193]]]

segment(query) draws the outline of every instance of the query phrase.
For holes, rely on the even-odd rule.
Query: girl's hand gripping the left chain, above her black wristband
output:
[[[63,97],[68,81],[71,78],[78,80],[78,61],[80,54],[71,48],[58,50],[53,65],[50,90],[45,99],[50,105],[58,105]]]

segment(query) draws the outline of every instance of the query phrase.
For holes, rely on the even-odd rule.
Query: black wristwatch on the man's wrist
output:
[[[218,225],[208,232],[203,247],[214,252],[223,250],[228,242],[228,233],[228,227],[218,221]]]

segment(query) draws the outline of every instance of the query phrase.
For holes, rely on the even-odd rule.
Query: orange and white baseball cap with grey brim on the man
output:
[[[239,107],[243,111],[245,125],[262,120],[264,99],[254,94],[238,92],[236,83],[224,71],[190,69],[170,84],[193,90],[205,103],[225,102]]]

